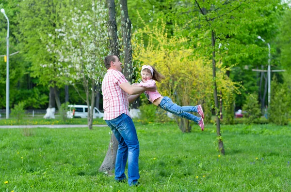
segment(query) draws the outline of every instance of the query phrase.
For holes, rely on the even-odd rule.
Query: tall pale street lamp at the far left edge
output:
[[[7,49],[6,49],[6,57],[7,57],[7,61],[6,61],[6,118],[9,118],[9,19],[7,17],[7,15],[5,14],[5,10],[1,9],[1,13],[5,16],[6,20],[7,20]]]

